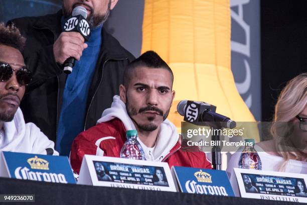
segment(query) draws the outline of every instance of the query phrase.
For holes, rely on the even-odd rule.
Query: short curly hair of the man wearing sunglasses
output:
[[[22,52],[25,42],[26,38],[21,35],[14,24],[5,26],[4,23],[0,23],[0,45],[10,46]]]

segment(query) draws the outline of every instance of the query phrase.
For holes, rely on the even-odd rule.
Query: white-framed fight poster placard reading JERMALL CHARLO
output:
[[[176,192],[166,162],[95,155],[84,155],[78,184]]]

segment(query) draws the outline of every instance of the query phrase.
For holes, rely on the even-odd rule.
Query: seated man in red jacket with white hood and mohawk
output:
[[[198,147],[182,148],[176,127],[167,117],[175,91],[171,68],[154,51],[132,61],[124,72],[119,94],[97,125],[79,134],[72,144],[70,161],[79,173],[84,154],[119,157],[127,130],[137,130],[146,160],[169,166],[211,168]]]

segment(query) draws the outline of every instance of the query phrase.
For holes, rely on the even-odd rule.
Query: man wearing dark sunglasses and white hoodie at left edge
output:
[[[33,123],[25,123],[20,101],[31,81],[21,50],[25,38],[0,24],[0,151],[58,155],[54,143]]]

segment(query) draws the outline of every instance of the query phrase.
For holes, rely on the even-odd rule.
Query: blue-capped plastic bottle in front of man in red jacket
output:
[[[146,160],[144,151],[137,141],[137,131],[136,130],[127,130],[126,132],[127,141],[122,146],[120,151],[121,158],[127,159],[141,159]]]

